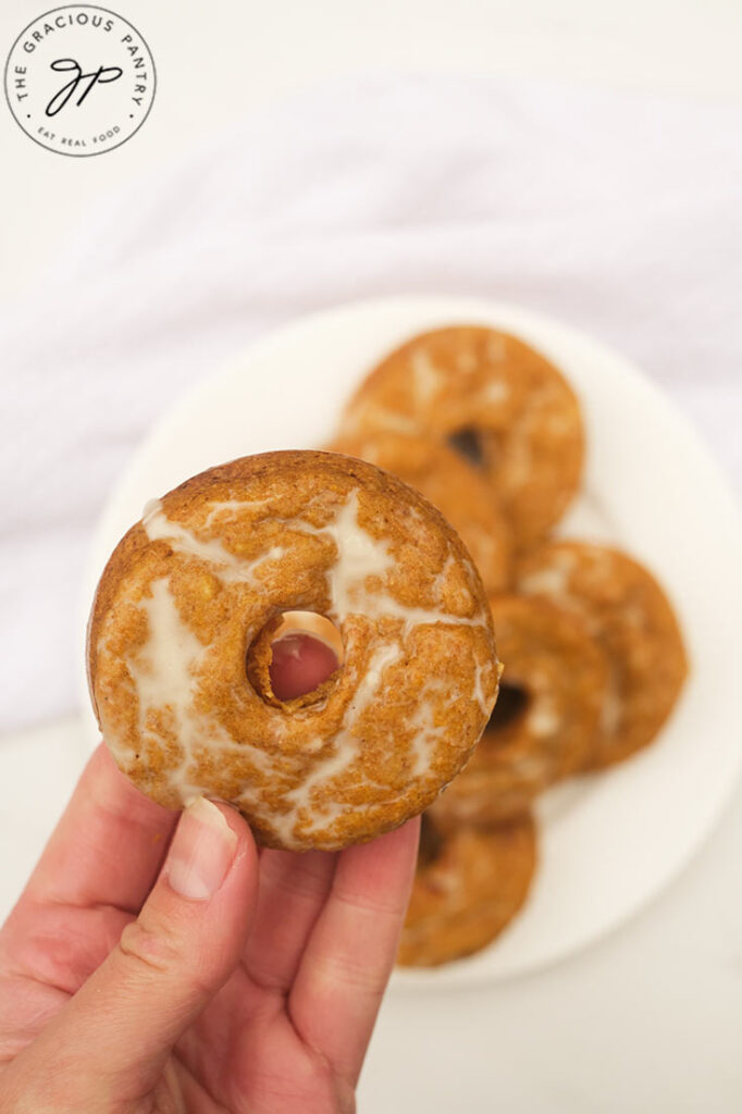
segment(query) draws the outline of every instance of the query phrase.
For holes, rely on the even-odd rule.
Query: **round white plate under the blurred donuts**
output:
[[[400,297],[306,317],[176,400],[105,510],[85,599],[87,610],[110,550],[147,499],[234,457],[321,444],[381,355],[423,329],[460,322],[517,333],[567,374],[583,405],[588,457],[585,495],[562,532],[616,541],[660,575],[692,673],[654,746],[539,802],[540,864],[525,911],[478,956],[396,976],[398,986],[420,988],[511,976],[585,947],[670,881],[730,795],[742,760],[742,530],[716,466],[671,403],[621,356],[511,305]],[[92,743],[91,714],[88,722]]]

